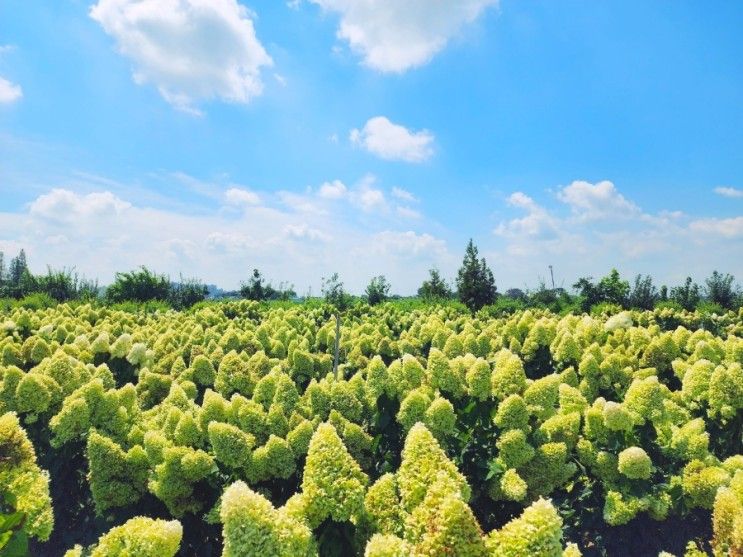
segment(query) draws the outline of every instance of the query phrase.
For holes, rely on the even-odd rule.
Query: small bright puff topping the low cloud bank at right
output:
[[[622,219],[640,213],[639,207],[628,201],[607,180],[596,184],[576,180],[558,191],[557,198],[584,220]]]

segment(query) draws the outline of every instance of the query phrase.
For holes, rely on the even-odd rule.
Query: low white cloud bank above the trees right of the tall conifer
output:
[[[496,225],[497,250],[489,260],[507,258],[509,273],[524,277],[527,284],[544,277],[547,265],[554,264],[571,281],[567,286],[577,277],[597,276],[612,267],[627,276],[650,273],[671,284],[689,273],[702,279],[714,268],[743,272],[727,255],[743,247],[743,217],[646,212],[607,181],[576,181],[555,197],[559,203],[545,206],[523,192],[512,193],[507,205],[521,214]]]

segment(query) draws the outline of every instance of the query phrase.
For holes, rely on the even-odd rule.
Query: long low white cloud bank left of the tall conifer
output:
[[[259,268],[301,292],[309,286],[316,292],[320,277],[338,271],[354,292],[383,272],[396,293],[412,293],[430,266],[446,268],[446,244],[425,233],[390,232],[399,222],[392,213],[363,214],[363,203],[376,206],[377,190],[367,177],[325,213],[299,212],[281,196],[266,194],[261,204],[240,205],[236,216],[222,206],[211,212],[153,208],[140,197],[130,200],[105,189],[52,189],[19,211],[0,209],[0,250],[12,254],[23,247],[34,272],[47,264],[74,265],[101,284],[116,271],[146,265],[172,277],[183,273],[236,288],[250,269]],[[303,200],[320,207],[331,203],[316,191],[292,195],[300,206]],[[227,196],[218,200],[232,206]]]

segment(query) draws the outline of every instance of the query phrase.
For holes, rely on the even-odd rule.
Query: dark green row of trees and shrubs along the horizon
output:
[[[616,269],[594,280],[581,277],[573,285],[574,293],[564,288],[548,288],[542,281],[534,290],[510,288],[501,294],[495,276],[485,258],[479,256],[472,240],[465,249],[462,265],[450,284],[438,269],[429,270],[428,277],[418,288],[417,297],[425,303],[458,301],[472,312],[488,307],[496,313],[511,313],[530,307],[548,308],[557,313],[590,312],[602,309],[643,309],[658,306],[676,309],[704,309],[722,312],[743,305],[743,293],[730,274],[718,271],[702,285],[687,277],[683,284],[657,286],[650,275],[637,275],[632,284],[623,279]],[[326,302],[344,309],[356,301],[370,305],[400,298],[390,294],[391,285],[384,275],[373,277],[364,294],[354,297],[346,292],[338,273],[322,279],[321,297]],[[37,304],[73,300],[98,301],[109,304],[159,302],[176,309],[185,309],[207,298],[208,288],[198,279],[179,277],[172,281],[147,267],[116,273],[114,281],[101,288],[97,281],[80,277],[73,269],[55,270],[34,275],[28,268],[24,250],[6,265],[0,252],[0,298],[31,298]],[[299,300],[293,285],[280,283],[274,287],[263,274],[254,269],[240,289],[227,293],[228,297],[257,301]],[[311,295],[303,297],[312,298]]]

